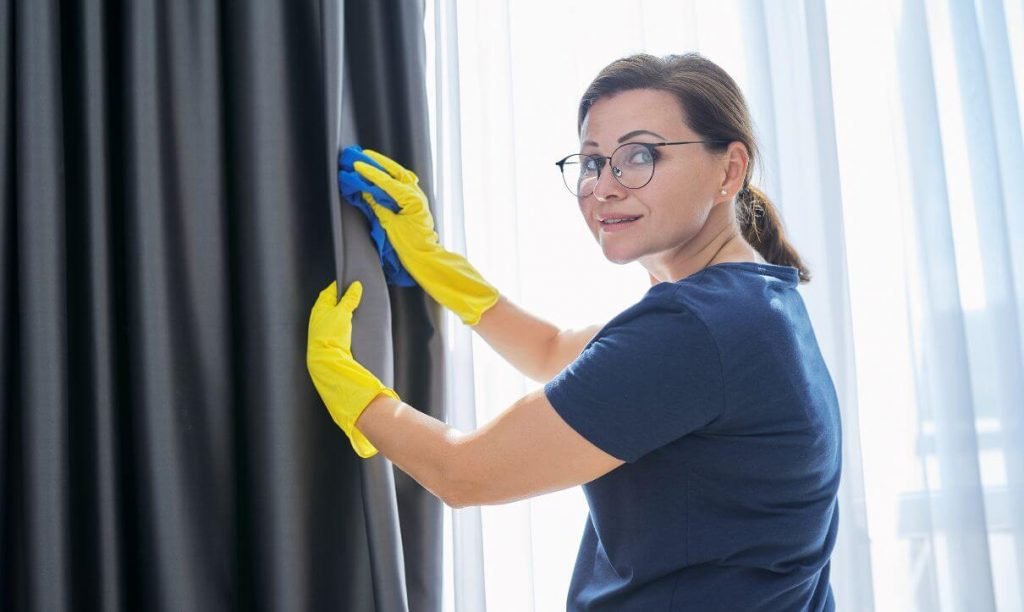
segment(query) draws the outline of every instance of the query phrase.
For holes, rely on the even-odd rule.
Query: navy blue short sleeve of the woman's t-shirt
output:
[[[569,427],[633,463],[719,416],[722,361],[692,311],[644,298],[609,321],[544,391]]]

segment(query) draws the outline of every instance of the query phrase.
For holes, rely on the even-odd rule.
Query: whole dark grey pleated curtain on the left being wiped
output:
[[[439,416],[437,307],[333,180],[349,139],[429,176],[421,21],[0,0],[0,609],[440,608],[439,504],[305,369],[317,292],[359,278],[353,351]]]

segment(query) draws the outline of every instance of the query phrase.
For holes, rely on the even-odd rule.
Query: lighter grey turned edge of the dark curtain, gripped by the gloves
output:
[[[361,236],[369,244],[366,232],[346,232],[343,217],[350,216],[352,211],[346,207],[346,214],[341,208],[337,186],[337,156],[341,142],[341,122],[343,100],[345,99],[345,57],[344,57],[344,0],[321,1],[321,36],[322,53],[324,57],[324,83],[329,114],[326,125],[334,128],[333,137],[327,138],[328,150],[328,181],[331,193],[331,229],[334,235],[335,270],[338,277],[339,293],[354,280],[353,266],[350,256],[355,253],[355,245]],[[351,106],[347,106],[350,112]],[[348,227],[351,227],[351,223]],[[356,227],[360,227],[356,225]],[[361,229],[361,227],[360,227]],[[366,245],[364,245],[365,247]],[[378,273],[373,278],[359,278],[367,291],[361,308],[372,309],[385,314],[383,324],[379,330],[379,352],[376,355],[371,350],[359,350],[354,342],[358,336],[353,331],[353,352],[359,353],[360,359],[373,371],[379,373],[385,385],[391,385],[393,379],[393,359],[391,354],[391,321],[387,287],[383,275]],[[375,287],[378,291],[374,291]],[[374,359],[373,357],[377,358]],[[369,357],[369,358],[368,358]],[[373,576],[373,592],[377,610],[409,610],[406,594],[404,555],[398,524],[398,506],[395,495],[394,472],[386,457],[378,454],[360,462],[362,482],[362,505],[367,524],[367,539],[370,554],[371,575]]]

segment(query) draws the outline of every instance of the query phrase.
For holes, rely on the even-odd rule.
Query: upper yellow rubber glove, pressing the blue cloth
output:
[[[398,205],[398,212],[394,213],[377,204],[373,195],[362,194],[380,220],[401,265],[437,303],[458,314],[467,325],[475,325],[498,302],[498,290],[484,280],[465,257],[441,247],[430,205],[420,188],[420,179],[375,150],[362,152],[387,170],[381,172],[365,162],[352,165],[360,176],[383,189]]]

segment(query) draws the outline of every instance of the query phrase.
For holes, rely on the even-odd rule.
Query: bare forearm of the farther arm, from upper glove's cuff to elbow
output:
[[[502,296],[473,331],[523,376],[539,383],[550,378],[549,362],[559,329]]]

